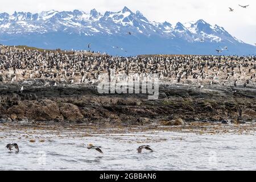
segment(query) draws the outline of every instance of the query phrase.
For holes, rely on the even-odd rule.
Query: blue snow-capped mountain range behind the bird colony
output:
[[[130,35],[131,34],[131,35]],[[255,54],[256,48],[234,38],[223,27],[203,19],[189,23],[151,22],[127,7],[105,14],[84,11],[43,11],[37,14],[0,13],[0,43],[47,49],[86,49],[112,55],[154,53]]]

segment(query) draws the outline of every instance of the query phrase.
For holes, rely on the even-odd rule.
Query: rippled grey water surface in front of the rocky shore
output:
[[[256,169],[255,133],[0,129],[1,170]],[[8,151],[7,143],[18,143],[19,153]],[[102,146],[104,154],[88,150],[89,143]],[[154,152],[138,154],[142,144]]]

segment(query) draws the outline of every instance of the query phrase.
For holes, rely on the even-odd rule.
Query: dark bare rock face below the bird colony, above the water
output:
[[[147,100],[146,94],[99,94],[96,88],[85,85],[44,86],[45,82],[1,83],[1,121],[183,125],[180,118],[184,122],[228,119],[236,122],[240,109],[240,119],[255,121],[256,118],[255,87],[211,85],[199,89],[192,85],[161,85],[159,99]]]

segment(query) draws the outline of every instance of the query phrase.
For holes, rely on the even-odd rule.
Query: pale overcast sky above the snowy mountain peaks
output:
[[[243,9],[238,5],[250,5]],[[139,10],[149,20],[156,22],[186,23],[204,19],[206,22],[222,26],[243,42],[256,43],[256,1],[255,0],[0,0],[0,12],[30,11],[38,13],[46,10],[83,10],[89,13],[96,9],[119,11],[127,6]],[[232,7],[234,12],[229,12]]]

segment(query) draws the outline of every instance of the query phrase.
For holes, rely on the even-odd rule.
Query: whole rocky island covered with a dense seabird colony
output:
[[[245,123],[256,118],[253,56],[113,57],[1,46],[0,122]],[[100,94],[100,73],[158,73],[159,98]]]

